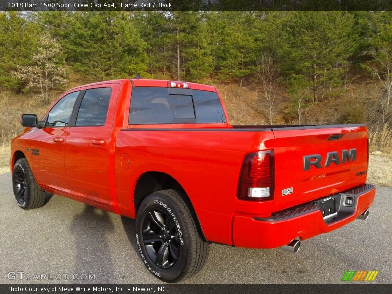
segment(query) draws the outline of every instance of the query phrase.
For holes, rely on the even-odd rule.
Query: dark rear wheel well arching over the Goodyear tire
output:
[[[181,184],[167,173],[146,172],[139,178],[139,180],[136,183],[135,191],[133,194],[135,211],[137,212],[140,203],[146,196],[150,195],[153,192],[160,191],[160,190],[167,190],[167,189],[179,190],[183,192],[182,197],[185,203],[188,205],[189,210],[195,217],[196,226],[200,233],[200,236],[204,239],[204,241],[207,241],[203,234],[200,221],[198,220],[196,211],[193,208],[193,205],[191,203],[191,200],[189,199],[188,194],[186,193],[185,189],[181,186]]]

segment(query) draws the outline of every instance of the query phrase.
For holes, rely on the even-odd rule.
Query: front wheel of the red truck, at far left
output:
[[[16,203],[23,209],[39,208],[47,202],[46,192],[38,187],[25,158],[18,159],[14,165],[12,187]]]

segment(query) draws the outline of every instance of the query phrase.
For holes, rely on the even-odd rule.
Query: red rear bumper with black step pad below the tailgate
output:
[[[354,221],[368,209],[374,201],[375,193],[375,187],[366,184],[336,195],[338,215],[327,220],[324,220],[321,210],[314,202],[283,210],[265,219],[235,216],[234,245],[247,248],[277,248],[289,244],[296,238],[305,240],[336,230]],[[343,205],[347,195],[354,198],[351,207]]]

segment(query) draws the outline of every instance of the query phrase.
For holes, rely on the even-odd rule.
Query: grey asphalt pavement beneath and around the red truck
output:
[[[139,258],[134,220],[57,195],[25,211],[9,173],[0,175],[0,199],[0,283],[159,282]],[[341,283],[346,270],[378,270],[374,282],[391,283],[391,203],[392,188],[377,187],[368,220],[304,240],[297,254],[212,244],[205,267],[185,282]]]

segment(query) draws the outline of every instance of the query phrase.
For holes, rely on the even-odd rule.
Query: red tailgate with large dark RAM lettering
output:
[[[274,211],[365,184],[368,165],[366,126],[272,130],[275,135]]]

